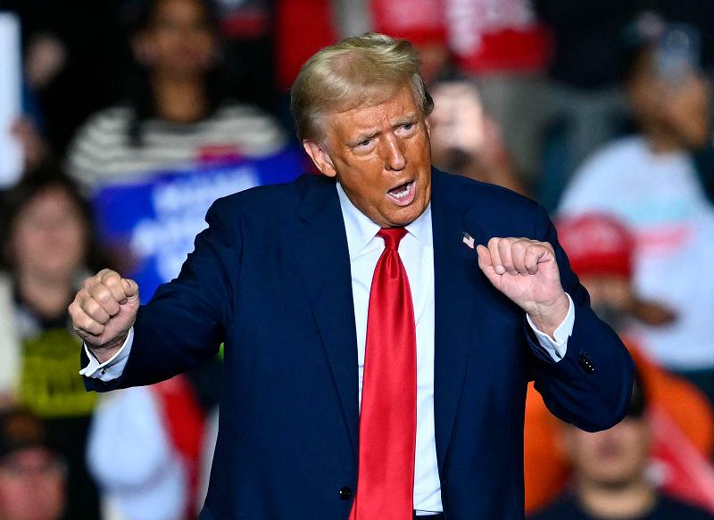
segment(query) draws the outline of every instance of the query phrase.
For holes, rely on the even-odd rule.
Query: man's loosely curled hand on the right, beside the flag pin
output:
[[[552,337],[568,314],[568,295],[552,245],[528,238],[492,238],[477,245],[478,267],[496,289],[528,313]]]

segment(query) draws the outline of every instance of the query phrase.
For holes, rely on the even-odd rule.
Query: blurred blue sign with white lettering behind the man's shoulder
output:
[[[207,225],[216,199],[253,186],[289,182],[304,171],[295,148],[260,159],[221,161],[147,173],[136,181],[103,186],[94,197],[97,233],[135,279],[142,302],[179,274],[194,238]]]

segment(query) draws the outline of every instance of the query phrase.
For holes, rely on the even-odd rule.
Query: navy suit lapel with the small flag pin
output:
[[[444,186],[443,177],[448,174],[436,169],[433,174],[434,414],[436,458],[439,471],[443,472],[469,352],[478,341],[475,293],[481,288],[482,277],[478,276],[477,253],[463,243],[463,233],[468,232],[476,243],[484,243],[484,236],[479,227],[465,224],[465,214],[473,202],[459,207],[458,194],[448,193],[448,186]]]

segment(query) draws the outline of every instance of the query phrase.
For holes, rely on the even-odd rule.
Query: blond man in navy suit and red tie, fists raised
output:
[[[354,37],[292,89],[321,176],[215,202],[145,306],[104,269],[70,307],[87,389],[153,384],[225,343],[202,520],[523,517],[527,382],[587,431],[632,363],[535,202],[430,166],[411,45]]]

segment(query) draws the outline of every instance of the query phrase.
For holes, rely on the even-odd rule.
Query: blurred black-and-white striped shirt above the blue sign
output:
[[[270,155],[286,144],[277,120],[251,105],[227,104],[194,123],[146,120],[137,146],[129,136],[132,114],[126,106],[99,111],[75,136],[67,170],[87,191],[196,161]]]

